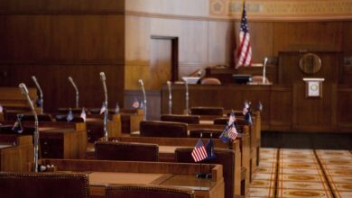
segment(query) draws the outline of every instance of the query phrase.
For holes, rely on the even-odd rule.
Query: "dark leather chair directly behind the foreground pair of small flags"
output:
[[[176,148],[175,161],[193,163],[191,152],[193,148]],[[235,151],[225,148],[214,148],[215,158],[204,161],[206,164],[220,164],[223,166],[225,182],[225,198],[235,197]]]

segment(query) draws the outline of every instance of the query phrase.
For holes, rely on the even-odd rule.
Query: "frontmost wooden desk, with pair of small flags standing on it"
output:
[[[198,179],[199,165],[165,162],[126,162],[107,160],[42,159],[42,165],[57,166],[58,171],[88,172],[90,195],[105,197],[107,185],[157,184],[193,189],[199,198],[223,198],[221,165],[202,165],[212,179]]]

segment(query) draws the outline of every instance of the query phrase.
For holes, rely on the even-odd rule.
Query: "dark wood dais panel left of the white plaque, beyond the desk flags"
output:
[[[274,85],[270,93],[270,112],[268,119],[271,130],[291,130],[292,128],[292,87]],[[265,108],[265,106],[264,106]],[[262,120],[265,119],[261,116]],[[262,121],[263,122],[263,121]]]

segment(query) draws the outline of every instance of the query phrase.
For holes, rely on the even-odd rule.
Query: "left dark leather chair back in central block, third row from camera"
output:
[[[141,121],[139,130],[142,137],[187,137],[187,124],[174,121]]]

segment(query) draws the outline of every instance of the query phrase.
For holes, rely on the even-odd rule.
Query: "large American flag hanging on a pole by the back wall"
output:
[[[249,29],[243,3],[241,27],[239,31],[239,47],[237,49],[238,62],[236,67],[252,66],[252,48],[249,40]]]

